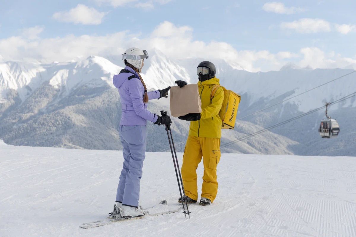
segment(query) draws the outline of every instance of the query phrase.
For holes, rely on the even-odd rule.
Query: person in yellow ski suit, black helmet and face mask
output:
[[[200,114],[187,114],[180,116],[190,122],[189,135],[185,145],[182,165],[182,178],[185,198],[188,203],[196,203],[198,200],[197,168],[203,157],[204,175],[201,188],[200,205],[210,205],[218,193],[216,180],[216,167],[220,161],[220,138],[222,121],[219,111],[224,101],[224,90],[218,87],[214,97],[211,91],[214,85],[220,85],[215,77],[216,69],[213,63],[203,61],[198,65],[198,88],[201,99]],[[184,81],[176,81],[179,86],[187,84]],[[182,199],[178,199],[182,202]]]

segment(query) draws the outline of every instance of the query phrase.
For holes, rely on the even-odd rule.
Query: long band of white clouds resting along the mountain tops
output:
[[[70,61],[86,58],[89,55],[117,56],[129,47],[139,47],[150,52],[156,48],[169,58],[224,59],[232,66],[239,65],[248,71],[279,70],[289,62],[312,68],[335,68],[356,65],[356,59],[344,58],[334,52],[324,53],[319,48],[303,48],[293,53],[282,51],[271,53],[268,50],[236,50],[226,42],[203,42],[193,39],[193,29],[189,26],[176,26],[165,21],[151,34],[132,35],[128,31],[104,36],[67,35],[56,38],[35,38],[14,36],[0,39],[0,52],[4,60],[36,59],[43,63]]]

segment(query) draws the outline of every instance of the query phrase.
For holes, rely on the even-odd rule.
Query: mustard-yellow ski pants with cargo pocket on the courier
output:
[[[185,195],[198,200],[197,168],[203,157],[204,175],[201,197],[211,202],[218,193],[216,166],[220,161],[220,138],[199,138],[188,136],[182,165],[182,178]]]

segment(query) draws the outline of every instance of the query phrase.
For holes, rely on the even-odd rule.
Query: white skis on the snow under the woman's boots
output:
[[[159,204],[167,205],[167,201],[163,200]],[[84,229],[88,229],[88,228],[93,228],[93,227],[105,226],[105,225],[109,225],[109,224],[115,223],[115,222],[123,222],[123,221],[130,221],[130,220],[132,221],[132,220],[137,220],[137,219],[143,219],[143,218],[148,217],[148,216],[159,216],[159,215],[176,213],[180,209],[182,209],[182,207],[180,207],[180,208],[178,208],[176,210],[172,210],[172,211],[162,211],[162,212],[157,212],[157,213],[153,213],[153,214],[150,214],[150,212],[148,212],[148,211],[144,211],[145,215],[143,215],[143,216],[135,216],[135,217],[121,218],[121,219],[113,219],[112,217],[106,217],[104,220],[83,223],[79,227],[80,228],[84,228]]]

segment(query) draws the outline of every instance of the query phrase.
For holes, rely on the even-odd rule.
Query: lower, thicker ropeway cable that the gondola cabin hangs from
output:
[[[331,105],[331,104],[336,104],[336,103],[345,101],[346,99],[352,98],[352,97],[354,97],[354,96],[356,96],[356,92],[351,93],[350,95],[347,95],[347,96],[342,97],[342,98],[340,98],[340,99],[337,99],[336,101],[329,103],[329,105]],[[296,117],[294,117],[294,118],[290,118],[290,119],[285,120],[285,121],[283,121],[283,122],[281,122],[281,123],[277,123],[277,124],[275,124],[275,125],[269,126],[268,128],[262,129],[262,130],[260,130],[260,131],[255,132],[255,133],[248,134],[248,135],[243,136],[242,138],[236,139],[236,140],[234,140],[234,141],[227,142],[226,144],[221,145],[220,148],[224,148],[224,147],[226,147],[226,146],[230,146],[230,145],[232,145],[232,144],[234,144],[234,143],[236,143],[236,142],[245,140],[245,139],[247,139],[247,138],[251,138],[251,137],[256,136],[256,135],[258,135],[258,134],[260,134],[260,133],[263,133],[263,132],[265,132],[265,131],[268,131],[268,130],[271,130],[271,129],[276,128],[276,127],[278,127],[278,126],[281,126],[281,125],[283,125],[283,124],[292,122],[293,120],[302,118],[302,117],[304,117],[304,116],[306,116],[306,115],[308,115],[308,114],[311,114],[311,113],[314,113],[314,112],[319,111],[319,110],[321,110],[321,109],[324,109],[325,107],[326,107],[326,105],[324,105],[324,106],[322,106],[322,107],[320,107],[320,108],[313,109],[312,111],[309,111],[309,112],[307,112],[307,113],[300,114],[300,115],[298,115],[298,116],[296,116]]]

